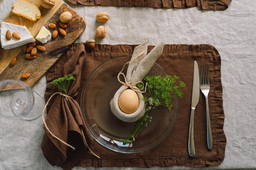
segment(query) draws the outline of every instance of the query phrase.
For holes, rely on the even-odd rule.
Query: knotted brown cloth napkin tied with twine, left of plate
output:
[[[83,44],[74,44],[61,59],[54,65],[54,70],[48,71],[46,99],[49,99],[52,94],[58,91],[58,88],[49,83],[52,80],[68,74],[74,75],[76,80],[72,82],[68,89],[67,95],[70,97],[66,99],[64,96],[58,95],[51,99],[47,108],[48,114],[45,122],[56,137],[73,146],[75,150],[52,137],[49,132],[44,134],[41,149],[47,161],[53,166],[57,165],[63,169],[71,169],[83,158],[87,149],[82,133],[88,139],[89,145],[90,141],[92,141],[87,128],[84,128],[85,123],[80,106],[74,98],[71,98],[76,97],[80,88],[81,68],[85,59]],[[80,128],[82,128],[83,132],[81,132]]]

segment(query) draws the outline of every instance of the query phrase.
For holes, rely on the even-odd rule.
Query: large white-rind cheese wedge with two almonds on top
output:
[[[13,37],[11,37],[11,40],[7,40],[5,38],[7,30],[10,30],[11,34],[14,32],[18,33],[20,35],[20,40],[17,40]],[[2,48],[6,50],[13,49],[15,47],[36,41],[34,40],[33,36],[29,33],[29,30],[27,29],[26,26],[15,25],[7,22],[1,23],[0,39]]]

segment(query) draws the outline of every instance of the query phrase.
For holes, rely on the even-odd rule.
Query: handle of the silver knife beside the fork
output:
[[[189,155],[191,157],[195,156],[194,116],[195,116],[195,108],[191,108],[191,117],[190,117],[190,124],[189,124]]]

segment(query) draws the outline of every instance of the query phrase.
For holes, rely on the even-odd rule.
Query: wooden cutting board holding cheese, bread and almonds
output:
[[[5,79],[17,79],[22,80],[29,86],[33,87],[36,82],[53,66],[53,64],[61,57],[63,53],[67,51],[70,45],[83,33],[86,27],[85,20],[76,13],[70,6],[68,6],[62,0],[55,0],[55,5],[52,9],[45,9],[40,6],[40,0],[27,0],[28,2],[35,4],[41,11],[41,18],[37,22],[31,22],[20,16],[16,16],[13,13],[9,13],[4,22],[9,22],[17,25],[25,25],[27,29],[36,39],[36,35],[45,26],[51,33],[54,29],[49,28],[49,23],[55,23],[58,25],[59,16],[65,11],[72,13],[72,20],[67,23],[66,36],[58,34],[56,39],[51,39],[45,46],[46,51],[38,51],[36,59],[28,60],[25,58],[25,53],[22,50],[22,46],[4,50],[0,47],[0,81]],[[11,11],[11,7],[10,7]],[[13,57],[17,58],[15,65],[11,66],[10,62]],[[30,73],[28,79],[20,79],[24,73]]]

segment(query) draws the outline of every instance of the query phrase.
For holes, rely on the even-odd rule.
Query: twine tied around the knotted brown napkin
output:
[[[60,138],[56,137],[56,136],[51,132],[51,130],[49,130],[49,128],[47,127],[47,124],[46,124],[46,122],[45,122],[45,110],[46,110],[46,107],[47,107],[47,105],[49,104],[49,102],[50,102],[50,100],[52,99],[52,97],[54,97],[54,95],[56,95],[56,94],[59,94],[59,95],[64,96],[64,97],[66,98],[66,100],[67,100],[67,97],[69,97],[69,98],[71,98],[71,99],[73,98],[73,97],[70,97],[70,96],[68,96],[68,95],[64,95],[63,93],[60,93],[60,92],[54,93],[54,94],[48,99],[47,103],[45,104],[45,107],[43,108],[43,113],[42,113],[43,127],[46,128],[46,132],[48,132],[52,137],[54,137],[55,139],[57,139],[59,142],[61,142],[62,144],[66,145],[67,147],[70,147],[70,148],[72,148],[73,150],[75,150],[75,148],[74,148],[73,146],[71,146],[70,144],[67,144],[65,141],[63,141],[63,140],[61,140]],[[67,103],[69,104],[68,100],[67,100]],[[69,104],[69,105],[70,105],[70,104]],[[81,133],[82,133],[82,136],[83,136],[83,142],[84,142],[84,144],[85,144],[85,149],[88,148],[88,149],[90,150],[90,152],[92,152],[92,150],[90,149],[90,147],[88,146],[88,144],[87,144],[87,142],[86,142],[86,140],[85,140],[85,136],[84,136],[84,134],[83,134],[83,129],[82,129],[81,127],[80,127],[80,130],[81,130]],[[96,155],[94,152],[92,152],[92,154],[93,154],[95,157],[100,158],[100,157],[99,157],[98,155]]]

